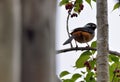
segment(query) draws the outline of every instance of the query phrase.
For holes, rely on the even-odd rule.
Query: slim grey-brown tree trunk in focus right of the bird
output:
[[[97,82],[109,82],[107,0],[97,0]]]

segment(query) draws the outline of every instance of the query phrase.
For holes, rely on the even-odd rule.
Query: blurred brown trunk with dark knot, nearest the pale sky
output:
[[[22,0],[22,81],[55,80],[55,0]]]

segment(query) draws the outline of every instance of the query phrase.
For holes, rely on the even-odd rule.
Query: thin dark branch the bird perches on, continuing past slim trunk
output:
[[[57,54],[60,54],[60,53],[64,53],[64,52],[69,52],[69,51],[77,51],[77,50],[97,50],[96,48],[92,48],[92,47],[78,47],[78,48],[67,48],[67,49],[62,49],[62,50],[57,50]],[[120,57],[120,53],[117,52],[117,51],[112,51],[112,50],[109,50],[109,54],[113,54],[113,55],[116,55],[116,56],[119,56]]]

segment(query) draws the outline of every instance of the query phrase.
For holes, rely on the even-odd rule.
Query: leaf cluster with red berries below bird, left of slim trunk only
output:
[[[96,47],[96,41],[92,42],[92,47]],[[60,73],[60,78],[64,76],[72,75],[69,79],[62,79],[63,82],[76,82],[78,79],[83,78],[86,82],[96,82],[96,59],[92,57],[95,51],[86,50],[80,54],[80,57],[75,62],[75,69],[86,68],[86,71],[81,71],[80,73],[70,73],[68,71],[63,71]],[[81,81],[81,82],[84,82]]]

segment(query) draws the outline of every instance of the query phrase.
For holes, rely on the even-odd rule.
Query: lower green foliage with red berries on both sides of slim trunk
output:
[[[96,47],[96,41],[91,43],[91,47]],[[96,82],[96,54],[94,51],[87,50],[81,53],[80,57],[75,62],[75,69],[86,68],[86,71],[81,71],[80,73],[72,74],[68,71],[63,71],[60,74],[60,78],[72,74],[70,79],[62,79],[63,82],[75,82],[77,79],[82,78],[83,82]],[[81,74],[82,73],[82,74]],[[109,73],[110,73],[110,82],[118,82],[120,79],[120,58],[109,54]]]

